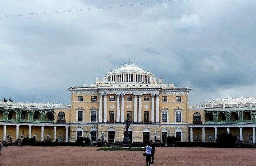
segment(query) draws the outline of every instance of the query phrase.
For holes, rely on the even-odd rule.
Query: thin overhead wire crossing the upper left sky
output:
[[[151,1],[146,3],[136,3],[136,4],[126,4],[126,5],[116,5],[116,6],[101,6],[95,8],[84,8],[84,9],[71,9],[71,10],[57,10],[57,11],[45,11],[37,13],[24,13],[24,14],[10,14],[10,15],[0,15],[0,18],[4,17],[17,17],[17,16],[30,16],[30,15],[40,15],[40,14],[55,14],[55,13],[67,13],[75,11],[87,11],[87,10],[101,10],[101,9],[112,9],[112,8],[125,8],[129,6],[140,6],[140,5],[151,5],[151,4],[161,4],[161,3],[171,3],[176,1],[186,1],[186,0],[165,0],[165,1]]]

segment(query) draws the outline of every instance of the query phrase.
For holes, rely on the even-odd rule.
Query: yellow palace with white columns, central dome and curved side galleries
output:
[[[129,118],[130,141],[146,143],[167,136],[182,142],[214,142],[220,132],[255,143],[256,98],[216,99],[188,104],[191,89],[164,84],[134,64],[96,79],[90,86],[72,86],[70,104],[0,102],[0,139],[35,137],[37,141],[75,142],[78,137],[108,143],[123,141]],[[12,139],[10,139],[12,138]]]

